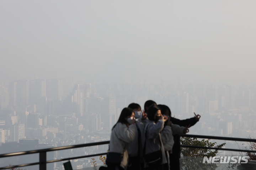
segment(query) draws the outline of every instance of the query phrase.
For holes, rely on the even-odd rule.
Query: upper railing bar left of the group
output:
[[[27,154],[33,154],[33,153],[41,153],[41,152],[59,151],[59,150],[64,150],[64,149],[81,148],[81,147],[88,147],[88,146],[95,146],[95,145],[105,145],[108,143],[110,143],[110,141],[84,143],[84,144],[79,144],[79,145],[62,146],[62,147],[47,148],[47,149],[38,149],[38,150],[34,150],[34,151],[6,153],[6,154],[0,154],[0,158],[27,155]]]

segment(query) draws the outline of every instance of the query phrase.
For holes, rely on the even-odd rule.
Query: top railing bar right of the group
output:
[[[206,139],[219,139],[219,140],[228,140],[228,141],[256,142],[256,139],[237,138],[237,137],[220,137],[220,136],[205,136],[205,135],[180,135],[180,136],[181,137],[206,138]]]

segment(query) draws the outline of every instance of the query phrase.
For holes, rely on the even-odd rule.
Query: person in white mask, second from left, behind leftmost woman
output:
[[[142,111],[141,107],[137,103],[129,104],[128,108],[133,109],[135,113],[135,138],[132,143],[129,145],[128,155],[129,155],[129,164],[128,170],[140,170],[143,167],[143,158],[142,158],[142,134],[144,131],[144,125],[146,124],[146,114],[144,110]],[[142,165],[142,166],[141,166]]]

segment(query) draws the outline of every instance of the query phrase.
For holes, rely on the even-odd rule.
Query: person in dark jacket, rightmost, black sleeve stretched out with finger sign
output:
[[[171,111],[169,111],[171,113]],[[171,117],[170,120],[173,124],[180,125],[180,126],[193,126],[196,124],[199,119],[200,115],[196,115],[190,119],[185,119],[185,120],[180,120]],[[170,155],[170,165],[171,165],[171,170],[180,170],[180,154],[181,154],[181,149],[180,149],[180,135],[173,135],[174,136],[174,146],[172,147],[172,153],[169,153]]]

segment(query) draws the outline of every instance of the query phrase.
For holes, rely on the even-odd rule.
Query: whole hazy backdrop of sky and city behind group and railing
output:
[[[122,109],[133,102],[144,109],[147,100],[166,104],[178,119],[200,114],[190,134],[254,137],[255,7],[220,0],[0,1],[0,154],[23,151],[24,143],[29,150],[28,140],[34,149],[110,140]],[[21,160],[12,161],[29,159]],[[90,166],[79,161],[73,167]]]

